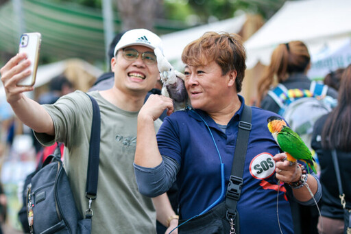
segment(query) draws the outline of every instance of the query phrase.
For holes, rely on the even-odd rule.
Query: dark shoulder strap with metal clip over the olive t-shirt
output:
[[[86,94],[88,95],[88,94]],[[86,216],[93,216],[91,208],[92,200],[97,196],[97,179],[99,175],[99,152],[100,152],[100,110],[99,105],[94,97],[90,97],[93,104],[93,121],[91,124],[90,142],[89,142],[89,159],[88,172],[86,174],[86,198],[89,199],[89,207]]]

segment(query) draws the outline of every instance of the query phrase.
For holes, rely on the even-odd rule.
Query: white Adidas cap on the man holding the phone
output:
[[[117,51],[119,49],[131,46],[131,45],[143,45],[149,47],[151,49],[155,49],[156,47],[162,49],[162,40],[153,32],[145,29],[136,29],[129,30],[123,34],[121,40],[117,43],[116,47],[114,47],[114,56],[116,56]]]

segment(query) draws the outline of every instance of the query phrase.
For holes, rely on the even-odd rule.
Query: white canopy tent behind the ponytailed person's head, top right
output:
[[[326,71],[346,67],[347,62],[351,62],[350,22],[350,0],[287,1],[245,42],[247,69],[253,68],[258,62],[269,65],[276,46],[291,40],[306,43],[313,62],[311,72],[315,69],[314,75],[319,78]],[[343,49],[340,51],[341,47]],[[330,60],[335,51],[340,52],[338,58],[343,54],[343,62],[320,62]]]

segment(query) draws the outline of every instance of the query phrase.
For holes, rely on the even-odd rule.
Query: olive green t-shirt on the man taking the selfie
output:
[[[138,112],[121,110],[98,91],[89,93],[99,104],[101,142],[97,199],[93,201],[92,233],[156,233],[156,211],[151,198],[138,192],[134,176]],[[45,105],[53,119],[55,137],[36,132],[44,145],[63,142],[64,167],[69,176],[77,209],[84,217],[88,150],[93,107],[89,97],[75,91],[56,104]],[[155,121],[156,132],[161,121]]]

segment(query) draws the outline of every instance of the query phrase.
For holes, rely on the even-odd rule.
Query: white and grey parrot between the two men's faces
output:
[[[165,97],[171,97],[174,110],[185,108],[189,104],[189,97],[184,85],[184,74],[172,67],[158,47],[154,49],[154,52],[163,84],[161,94]]]

